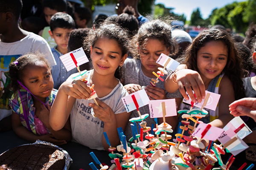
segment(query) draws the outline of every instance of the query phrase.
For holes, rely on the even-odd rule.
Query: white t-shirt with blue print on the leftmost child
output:
[[[46,55],[50,65],[56,65],[55,59],[48,43],[44,38],[32,32],[16,42],[1,42],[0,40],[0,120],[12,114],[9,107],[9,99],[12,96],[10,91],[11,80],[9,78],[9,64],[26,53],[39,51]]]

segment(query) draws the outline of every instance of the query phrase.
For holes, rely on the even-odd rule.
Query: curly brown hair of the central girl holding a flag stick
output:
[[[108,37],[109,39],[114,39],[119,44],[119,48],[122,51],[122,57],[125,54],[133,57],[136,54],[134,43],[128,38],[128,33],[122,27],[117,26],[113,23],[103,23],[96,30],[91,29],[88,33],[88,37],[84,39],[83,48],[86,51],[90,51],[90,47],[94,47],[95,43],[102,37]],[[116,69],[115,77],[120,79],[121,72],[120,68]]]

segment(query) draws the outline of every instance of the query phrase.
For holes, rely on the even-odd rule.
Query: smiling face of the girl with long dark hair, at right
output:
[[[197,67],[204,82],[223,71],[227,64],[228,49],[222,41],[210,41],[198,50]]]

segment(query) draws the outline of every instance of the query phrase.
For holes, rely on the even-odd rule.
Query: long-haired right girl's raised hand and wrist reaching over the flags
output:
[[[182,96],[188,100],[189,97],[186,94],[187,92],[194,102],[196,102],[195,96],[197,97],[198,102],[201,102],[205,97],[204,82],[201,79],[200,74],[197,71],[190,69],[177,70],[169,75],[164,82],[164,88],[170,93],[180,89]],[[195,92],[195,96],[192,89]]]

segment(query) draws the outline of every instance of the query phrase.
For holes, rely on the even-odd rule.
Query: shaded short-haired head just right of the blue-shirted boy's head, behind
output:
[[[90,22],[92,14],[88,8],[78,7],[75,10],[74,16],[78,28],[87,28],[87,24]]]

